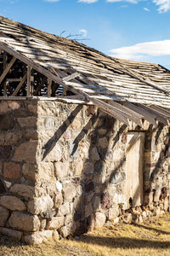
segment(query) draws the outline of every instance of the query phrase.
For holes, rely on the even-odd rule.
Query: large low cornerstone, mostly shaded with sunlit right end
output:
[[[40,221],[36,215],[22,212],[13,212],[8,219],[8,224],[16,230],[23,230],[26,232],[37,231],[40,227]]]

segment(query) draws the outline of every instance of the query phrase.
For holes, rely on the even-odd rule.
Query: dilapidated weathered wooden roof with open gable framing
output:
[[[168,124],[170,71],[160,65],[112,58],[2,16],[0,52],[0,96],[57,97],[62,85],[65,97],[71,91],[126,125]]]

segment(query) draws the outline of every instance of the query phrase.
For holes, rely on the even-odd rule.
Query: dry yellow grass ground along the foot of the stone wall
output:
[[[76,238],[27,246],[0,236],[0,255],[170,256],[170,214],[144,224],[109,225]]]

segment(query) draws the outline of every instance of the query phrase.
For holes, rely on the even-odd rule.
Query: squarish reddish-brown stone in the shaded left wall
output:
[[[20,178],[20,165],[14,163],[4,163],[3,177],[5,178]]]

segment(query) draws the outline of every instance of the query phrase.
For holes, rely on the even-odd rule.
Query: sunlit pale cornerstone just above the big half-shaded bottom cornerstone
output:
[[[32,214],[40,214],[42,212],[47,212],[54,207],[54,202],[49,195],[34,198],[28,202],[27,208],[28,212]]]

